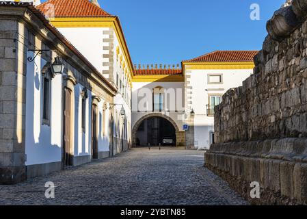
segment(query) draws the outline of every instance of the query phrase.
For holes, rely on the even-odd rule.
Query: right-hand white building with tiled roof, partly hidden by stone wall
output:
[[[257,53],[214,51],[182,62],[189,125],[187,147],[209,149],[214,141],[214,107],[222,101],[227,90],[242,86],[253,73],[253,57]]]

